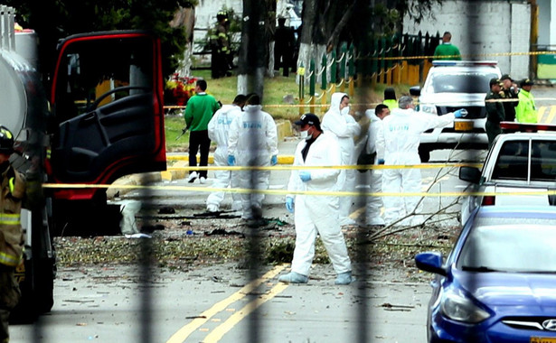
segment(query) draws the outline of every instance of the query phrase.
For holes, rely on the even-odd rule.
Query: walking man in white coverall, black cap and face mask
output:
[[[333,166],[341,162],[341,152],[333,134],[323,133],[320,121],[312,113],[301,116],[306,138],[297,144],[294,166]],[[293,170],[287,183],[288,191],[335,191],[340,171],[337,169]],[[316,235],[320,235],[337,277],[335,284],[352,283],[352,265],[347,254],[344,235],[338,222],[339,199],[334,195],[289,194],[286,209],[294,212],[296,248],[291,272],[280,275],[282,283],[307,283],[315,256]]]

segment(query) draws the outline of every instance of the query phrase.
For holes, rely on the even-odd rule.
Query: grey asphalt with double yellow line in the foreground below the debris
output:
[[[363,333],[365,342],[425,340],[428,284],[377,270],[367,282],[335,286],[328,265],[316,265],[306,285],[278,283],[286,267],[269,267],[254,283],[234,264],[155,273],[148,283],[133,267],[62,270],[52,312],[34,326],[12,326],[11,342],[353,342]]]

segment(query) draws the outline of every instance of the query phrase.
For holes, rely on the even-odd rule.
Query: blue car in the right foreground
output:
[[[556,342],[554,207],[479,207],[446,260],[415,262],[437,274],[429,342]]]

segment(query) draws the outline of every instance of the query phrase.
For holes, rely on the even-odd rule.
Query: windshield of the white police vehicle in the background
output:
[[[495,73],[459,72],[432,75],[427,93],[487,93],[490,79],[497,78]]]

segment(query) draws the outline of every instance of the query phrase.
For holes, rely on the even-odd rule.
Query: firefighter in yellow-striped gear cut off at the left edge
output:
[[[29,208],[29,201],[38,199],[33,195],[33,187],[39,185],[38,173],[30,169],[25,176],[17,172],[9,162],[14,153],[14,136],[5,126],[0,126],[0,172],[2,192],[0,193],[0,342],[8,342],[8,320],[10,312],[21,298],[19,283],[15,280],[15,268],[23,264],[24,232],[21,227],[21,209]],[[33,167],[32,167],[33,168]],[[36,175],[34,175],[36,174]],[[36,195],[38,196],[38,194]],[[33,199],[34,197],[34,199]]]

